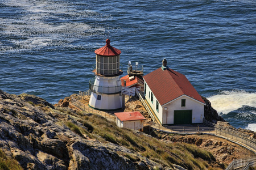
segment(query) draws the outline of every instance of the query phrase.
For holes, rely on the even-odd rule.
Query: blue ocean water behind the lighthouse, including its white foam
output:
[[[88,90],[108,37],[124,73],[166,58],[226,121],[256,131],[255,0],[1,0],[0,89],[52,104]]]

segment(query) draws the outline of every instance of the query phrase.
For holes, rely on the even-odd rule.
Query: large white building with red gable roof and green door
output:
[[[197,124],[205,102],[185,75],[163,66],[143,76],[144,96],[161,124]]]

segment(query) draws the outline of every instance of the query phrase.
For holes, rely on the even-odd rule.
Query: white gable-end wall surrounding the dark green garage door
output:
[[[186,100],[185,107],[181,107],[181,99]],[[167,107],[167,121],[163,122],[163,124],[174,124],[175,110],[192,110],[192,124],[203,123],[204,104],[188,96],[183,95],[171,103],[164,105],[164,107]]]

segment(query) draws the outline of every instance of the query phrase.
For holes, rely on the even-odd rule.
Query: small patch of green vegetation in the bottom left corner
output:
[[[19,163],[13,158],[7,158],[0,149],[0,169],[1,170],[22,170]]]

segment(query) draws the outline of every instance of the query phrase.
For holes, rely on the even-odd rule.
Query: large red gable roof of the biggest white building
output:
[[[160,105],[164,105],[182,95],[187,95],[204,103],[204,100],[186,76],[172,69],[163,70],[160,67],[150,74],[143,76],[143,79]]]

